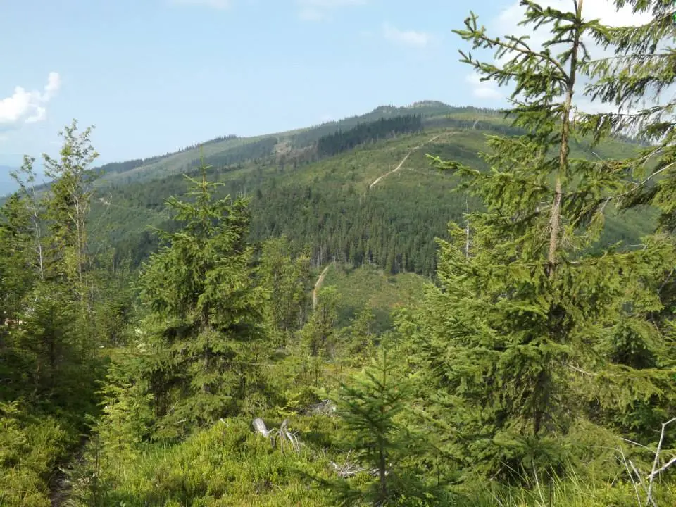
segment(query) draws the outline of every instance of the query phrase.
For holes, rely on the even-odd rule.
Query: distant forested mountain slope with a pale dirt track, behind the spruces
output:
[[[251,199],[252,239],[287,234],[311,246],[317,265],[374,263],[390,273],[431,276],[434,238],[445,237],[449,220],[462,220],[477,204],[451,192],[457,180],[432,169],[427,155],[485,169],[477,153],[487,135],[518,132],[497,111],[425,101],[306,130],[230,136],[148,161],[104,166],[92,223],[106,223],[96,231],[99,239],[137,265],[157,246],[149,226],[172,226],[165,199],[185,192],[183,174],[194,175],[202,159],[211,165],[209,177],[224,183],[222,194]],[[636,148],[609,141],[592,152],[578,142],[572,153],[613,158]],[[613,220],[603,241],[636,242],[649,229],[639,215]]]

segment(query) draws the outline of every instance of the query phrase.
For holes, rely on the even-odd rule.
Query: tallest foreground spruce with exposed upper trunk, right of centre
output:
[[[400,322],[430,375],[427,414],[446,451],[492,477],[589,463],[610,433],[604,410],[673,398],[673,370],[659,360],[665,337],[650,319],[662,308],[656,282],[675,263],[672,246],[651,237],[638,249],[592,253],[612,202],[632,183],[620,163],[569,154],[590,63],[584,40],[608,32],[584,19],[582,0],[569,5],[522,1],[522,24],[551,30],[542,49],[527,37],[490,37],[473,14],[457,31],[475,49],[494,49],[501,64],[463,61],[483,80],[515,85],[508,113],[527,134],[488,137],[488,171],[434,159],[486,211],[470,215],[469,251],[463,225],[451,223],[451,241],[439,242],[439,287]],[[622,340],[654,360],[617,361]]]

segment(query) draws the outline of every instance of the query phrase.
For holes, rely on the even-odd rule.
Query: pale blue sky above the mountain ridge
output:
[[[458,61],[470,6],[520,30],[518,0],[0,0],[0,165],[55,154],[74,118],[104,163],[387,104],[503,106]]]

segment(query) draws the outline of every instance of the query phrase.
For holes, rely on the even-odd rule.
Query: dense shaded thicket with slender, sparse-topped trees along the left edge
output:
[[[112,266],[88,248],[91,130],[65,127],[58,158],[45,157],[48,192],[34,187],[32,158],[0,215],[0,502],[49,506],[57,465],[99,412],[99,344],[129,300],[101,287]],[[98,266],[98,268],[97,268]],[[127,280],[118,273],[119,282]],[[119,313],[118,313],[119,312]],[[115,315],[118,313],[117,315]]]

